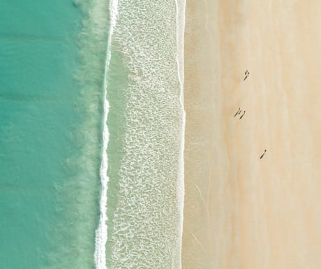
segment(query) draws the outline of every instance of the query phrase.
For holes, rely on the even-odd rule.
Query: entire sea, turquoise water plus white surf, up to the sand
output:
[[[0,2],[0,268],[179,268],[184,1]]]

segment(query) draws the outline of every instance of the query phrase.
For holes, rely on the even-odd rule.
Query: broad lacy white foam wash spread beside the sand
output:
[[[181,268],[185,0],[119,0],[118,10],[114,50],[129,75],[108,261]]]

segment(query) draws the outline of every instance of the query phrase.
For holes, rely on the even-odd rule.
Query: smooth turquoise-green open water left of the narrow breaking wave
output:
[[[0,1],[1,269],[95,268],[105,45],[86,66],[86,8]]]

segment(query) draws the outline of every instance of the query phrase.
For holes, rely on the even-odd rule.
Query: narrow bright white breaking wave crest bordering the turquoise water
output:
[[[107,145],[109,141],[109,131],[107,126],[107,115],[109,111],[109,102],[107,100],[107,72],[110,65],[111,58],[111,41],[114,27],[117,21],[117,6],[118,0],[110,0],[110,32],[107,40],[107,54],[105,61],[105,75],[104,75],[104,117],[103,117],[103,158],[100,166],[100,180],[101,180],[101,196],[100,196],[100,219],[98,228],[96,229],[96,245],[94,259],[97,269],[106,269],[106,242],[107,242]],[[99,6],[97,5],[97,8]]]

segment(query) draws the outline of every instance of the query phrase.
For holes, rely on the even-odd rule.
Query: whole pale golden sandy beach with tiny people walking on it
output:
[[[187,0],[185,45],[182,268],[320,269],[321,1]]]

